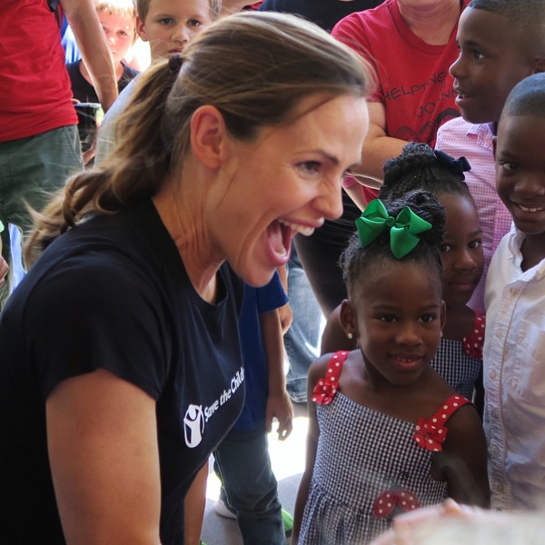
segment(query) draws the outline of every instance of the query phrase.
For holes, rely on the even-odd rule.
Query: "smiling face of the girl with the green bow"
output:
[[[370,380],[394,386],[418,381],[441,341],[439,272],[423,263],[389,261],[358,291],[352,309]]]

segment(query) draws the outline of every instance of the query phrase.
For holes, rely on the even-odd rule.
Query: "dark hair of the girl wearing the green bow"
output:
[[[414,250],[398,260],[390,248],[390,231],[381,233],[371,244],[362,248],[358,233],[352,235],[348,246],[341,254],[342,279],[346,283],[349,296],[366,279],[377,272],[385,271],[391,262],[412,262],[426,265],[430,271],[436,271],[441,285],[442,263],[440,245],[445,223],[444,208],[435,195],[425,191],[413,191],[399,199],[384,202],[391,216],[397,216],[408,206],[412,212],[431,223],[431,229],[419,234],[420,243]]]

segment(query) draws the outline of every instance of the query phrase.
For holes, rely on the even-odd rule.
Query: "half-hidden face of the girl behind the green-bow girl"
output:
[[[470,195],[439,196],[445,208],[445,234],[441,244],[443,299],[466,304],[481,280],[484,267],[482,229]]]

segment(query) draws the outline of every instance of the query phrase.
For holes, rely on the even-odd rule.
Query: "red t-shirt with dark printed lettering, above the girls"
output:
[[[470,0],[463,1],[463,7]],[[449,67],[458,58],[456,33],[446,45],[429,45],[401,17],[397,0],[344,17],[332,35],[372,64],[376,89],[370,102],[384,104],[386,134],[409,142],[435,144],[439,126],[460,111]],[[366,188],[364,188],[366,189]],[[374,198],[376,191],[364,191]]]

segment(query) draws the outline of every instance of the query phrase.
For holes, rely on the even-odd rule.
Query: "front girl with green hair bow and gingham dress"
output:
[[[444,321],[443,223],[431,193],[373,202],[342,255],[341,322],[360,349],[326,354],[309,372],[300,545],[362,545],[397,513],[448,496],[488,505],[479,415],[430,366]]]

